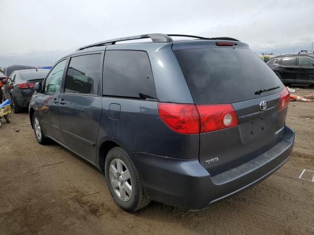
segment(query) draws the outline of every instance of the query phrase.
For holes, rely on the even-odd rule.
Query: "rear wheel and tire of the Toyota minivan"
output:
[[[113,200],[123,210],[137,211],[151,202],[144,192],[135,165],[122,148],[114,147],[108,152],[105,159],[105,178]]]

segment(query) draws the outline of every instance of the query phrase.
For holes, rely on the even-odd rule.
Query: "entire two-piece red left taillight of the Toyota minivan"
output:
[[[182,134],[205,133],[237,125],[231,104],[158,103],[158,114],[170,129]]]

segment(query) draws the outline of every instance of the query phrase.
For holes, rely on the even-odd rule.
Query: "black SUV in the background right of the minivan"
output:
[[[287,86],[290,84],[314,84],[314,54],[300,53],[271,58],[267,65]]]

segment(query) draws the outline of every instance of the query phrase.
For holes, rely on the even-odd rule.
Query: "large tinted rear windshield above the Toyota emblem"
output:
[[[235,103],[274,94],[283,87],[253,51],[244,48],[197,48],[174,51],[196,104]]]

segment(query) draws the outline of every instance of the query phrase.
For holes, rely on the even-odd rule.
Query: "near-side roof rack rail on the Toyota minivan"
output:
[[[116,38],[116,39],[110,39],[107,41],[99,42],[90,44],[84,47],[79,47],[78,50],[83,50],[89,47],[100,47],[105,45],[112,45],[116,42],[122,42],[122,41],[129,41],[129,40],[135,40],[135,39],[144,39],[144,38],[151,38],[153,43],[168,43],[173,42],[172,38],[170,38],[168,35],[161,34],[161,33],[151,33],[151,34],[142,34],[137,36],[131,36],[131,37],[123,37],[123,38]]]

